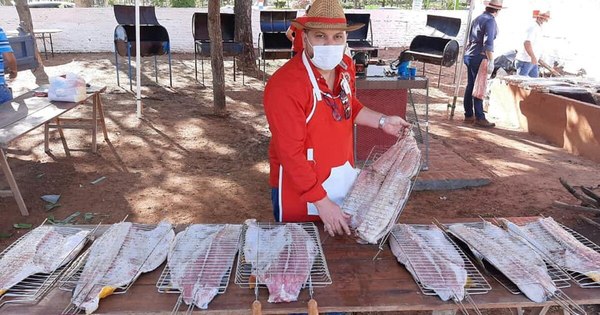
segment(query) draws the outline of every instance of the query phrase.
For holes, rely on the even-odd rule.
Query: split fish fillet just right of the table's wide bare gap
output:
[[[442,230],[435,226],[415,229],[398,224],[392,233],[392,252],[424,288],[433,290],[443,301],[464,299],[467,284],[464,260]]]

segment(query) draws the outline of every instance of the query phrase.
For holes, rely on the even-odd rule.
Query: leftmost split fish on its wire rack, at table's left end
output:
[[[41,225],[0,254],[0,305],[36,303],[88,240],[90,229]]]

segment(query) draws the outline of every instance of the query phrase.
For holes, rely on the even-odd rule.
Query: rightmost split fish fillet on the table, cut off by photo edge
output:
[[[504,222],[509,229],[542,250],[554,263],[600,283],[600,253],[582,244],[554,219],[540,218],[523,226],[516,226],[507,220]]]

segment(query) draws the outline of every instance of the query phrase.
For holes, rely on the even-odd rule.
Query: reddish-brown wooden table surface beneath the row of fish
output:
[[[465,220],[465,219],[462,219]],[[471,221],[473,219],[470,219]],[[465,220],[466,221],[466,220]],[[458,219],[454,222],[461,222]],[[464,222],[464,221],[463,221]],[[319,227],[322,230],[321,227]],[[389,248],[378,256],[374,245],[359,245],[346,238],[331,238],[321,234],[323,249],[333,284],[315,288],[314,298],[320,312],[401,312],[455,310],[452,302],[443,302],[436,296],[425,296],[406,269],[400,265]],[[178,294],[158,293],[156,282],[162,269],[142,275],[128,292],[101,300],[97,314],[170,314]],[[240,288],[232,273],[229,287],[210,303],[209,314],[250,314],[254,291]],[[480,309],[546,307],[553,302],[534,303],[524,295],[509,293],[494,279],[487,277],[492,290],[485,295],[472,295]],[[259,300],[263,314],[306,313],[308,290],[302,290],[294,303],[267,303],[267,289],[260,289]],[[563,289],[580,305],[600,304],[600,289],[581,289],[575,285]],[[6,314],[59,314],[69,303],[70,292],[54,289],[40,303],[33,306],[5,305],[0,313]],[[467,305],[468,307],[468,305]]]

